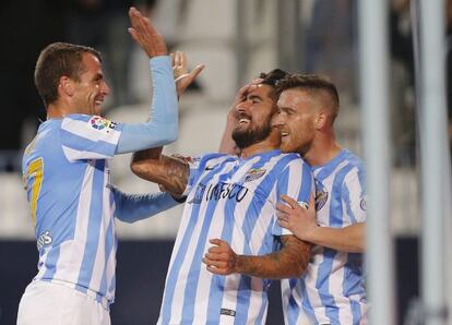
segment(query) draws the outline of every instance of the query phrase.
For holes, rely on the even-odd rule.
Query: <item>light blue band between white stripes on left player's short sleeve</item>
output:
[[[107,157],[115,155],[116,145],[105,141],[92,141],[66,130],[61,130],[61,143],[78,152],[90,152]]]

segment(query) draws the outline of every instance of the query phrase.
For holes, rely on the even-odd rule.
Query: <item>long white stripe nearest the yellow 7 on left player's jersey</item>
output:
[[[86,164],[76,209],[74,238],[61,243],[53,279],[70,281],[71,284],[79,282],[90,221],[86,216],[90,216],[94,169],[93,161]]]

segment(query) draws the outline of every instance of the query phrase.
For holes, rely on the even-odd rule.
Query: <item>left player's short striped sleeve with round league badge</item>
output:
[[[122,128],[122,123],[98,116],[68,116],[62,120],[60,130],[63,153],[70,161],[111,158]]]

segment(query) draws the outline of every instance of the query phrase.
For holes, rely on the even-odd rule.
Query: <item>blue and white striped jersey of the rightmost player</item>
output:
[[[346,227],[366,221],[364,164],[343,149],[312,168],[320,226]],[[314,246],[300,279],[282,281],[286,324],[366,324],[368,309],[362,254]]]

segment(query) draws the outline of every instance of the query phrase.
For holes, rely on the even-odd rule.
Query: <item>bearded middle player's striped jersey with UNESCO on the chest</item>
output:
[[[227,241],[237,254],[276,251],[279,236],[289,233],[276,221],[281,195],[308,202],[311,191],[310,167],[296,154],[272,151],[247,159],[211,154],[197,159],[158,324],[264,324],[270,280],[214,275],[202,257],[212,238]]]

